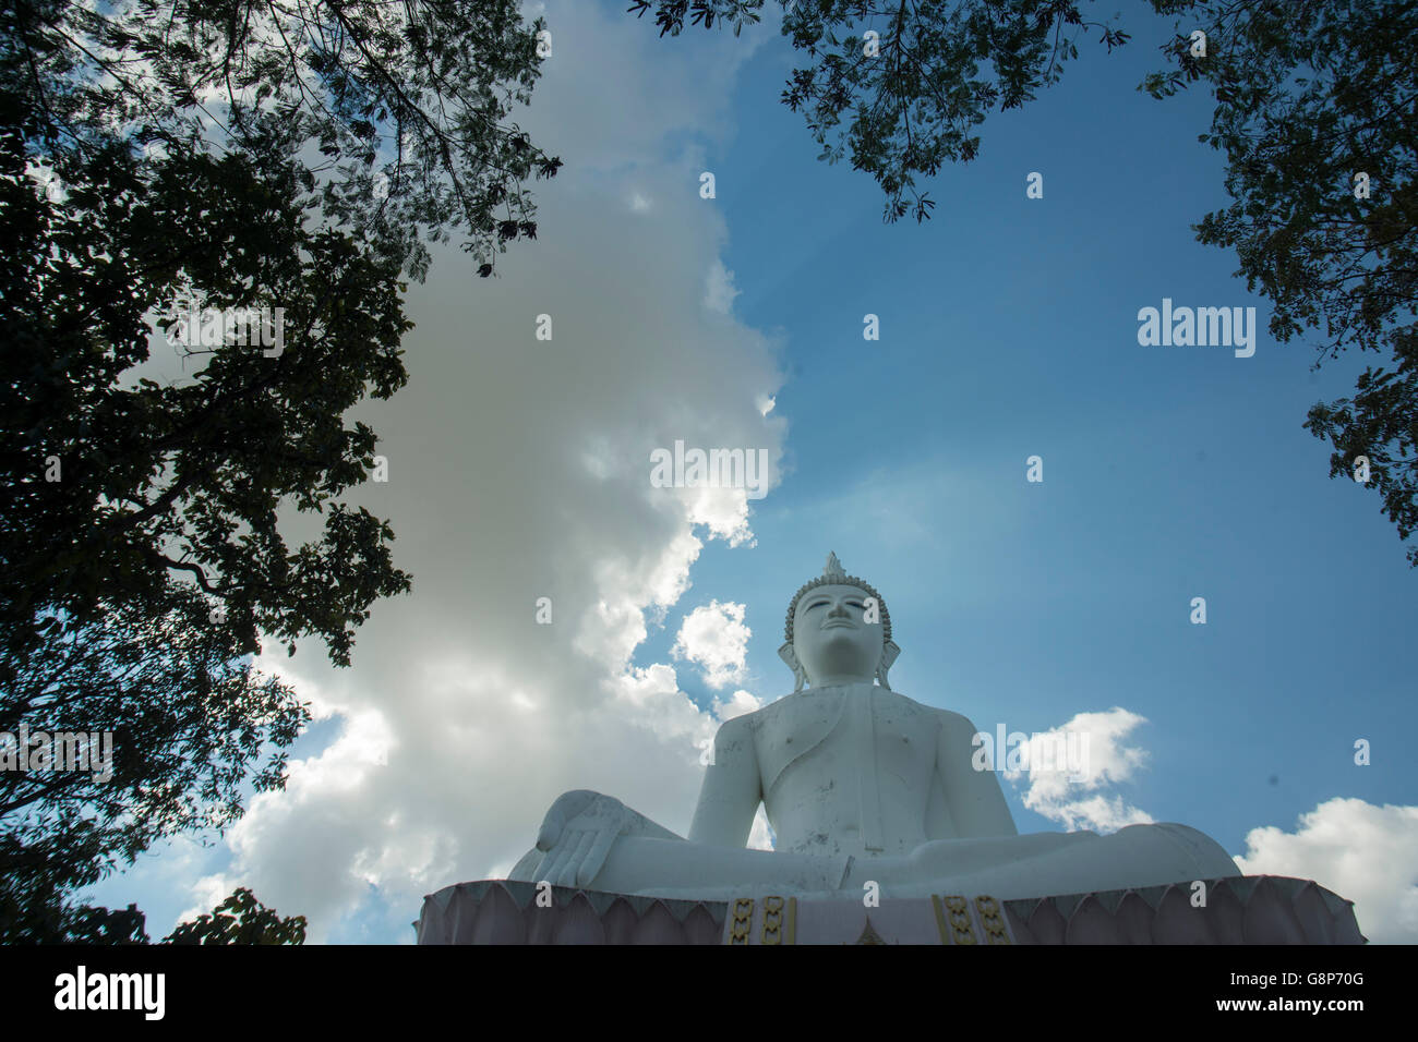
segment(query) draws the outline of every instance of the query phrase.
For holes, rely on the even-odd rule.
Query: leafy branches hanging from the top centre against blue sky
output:
[[[980,152],[973,130],[995,106],[1018,108],[1058,82],[1078,57],[1078,37],[1098,28],[1109,50],[1127,34],[1085,20],[1061,0],[783,0],[783,35],[807,62],[793,69],[783,103],[801,112],[818,159],[876,180],[883,217],[930,217],[917,190],[947,162]],[[689,24],[759,21],[763,0],[632,0],[637,17],[655,10],[661,35]],[[868,41],[866,33],[876,38]],[[908,198],[909,197],[909,198]]]

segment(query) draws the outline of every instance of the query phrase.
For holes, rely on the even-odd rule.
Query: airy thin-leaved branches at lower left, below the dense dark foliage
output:
[[[64,627],[41,655],[0,651],[6,709],[47,741],[82,736],[88,760],[88,770],[0,773],[0,940],[94,937],[108,913],[72,909],[64,895],[163,836],[225,828],[247,785],[285,783],[285,753],[264,764],[262,753],[295,740],[306,706],[208,624],[190,584],[172,583],[160,601],[164,615],[140,600]],[[115,723],[101,736],[94,722]]]

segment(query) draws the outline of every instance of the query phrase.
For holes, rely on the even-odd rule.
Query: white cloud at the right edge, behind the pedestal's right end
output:
[[[1255,828],[1245,844],[1245,875],[1313,879],[1354,902],[1368,940],[1418,943],[1418,807],[1336,797],[1302,814],[1293,832]]]

